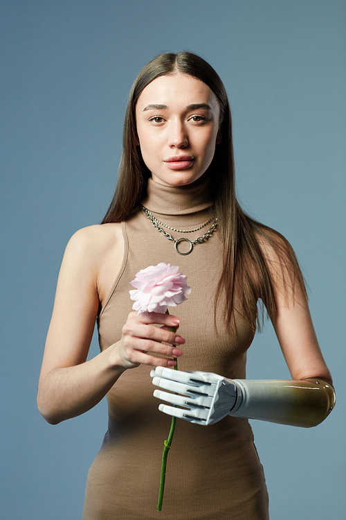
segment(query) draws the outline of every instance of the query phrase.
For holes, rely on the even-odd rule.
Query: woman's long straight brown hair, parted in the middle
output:
[[[223,269],[215,294],[215,308],[221,294],[226,295],[226,322],[235,328],[235,313],[240,312],[255,329],[260,327],[257,300],[262,300],[269,315],[277,309],[271,261],[280,266],[283,291],[294,292],[295,283],[304,288],[304,280],[295,254],[282,235],[258,223],[244,213],[235,195],[232,119],[226,89],[216,71],[198,55],[189,52],[164,53],[156,56],[138,74],[129,94],[122,136],[122,156],[116,191],[102,224],[121,222],[145,198],[151,176],[143,162],[136,130],[136,103],[143,89],[158,76],[180,71],[197,78],[214,92],[220,107],[222,141],[215,149],[208,171],[215,214],[224,245]],[[262,244],[262,245],[261,245]]]

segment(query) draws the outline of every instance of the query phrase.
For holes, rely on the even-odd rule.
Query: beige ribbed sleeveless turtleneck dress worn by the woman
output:
[[[208,180],[187,187],[165,187],[149,180],[143,205],[163,223],[193,229],[212,216]],[[211,224],[210,224],[211,225]],[[196,239],[206,232],[174,237]],[[238,319],[235,337],[224,327],[220,303],[214,321],[213,298],[221,269],[221,243],[215,232],[187,256],[159,233],[140,209],[122,224],[125,254],[98,320],[100,348],[121,337],[131,311],[131,286],[138,270],[159,262],[179,266],[192,287],[188,301],[170,309],[181,318],[186,342],[180,370],[215,372],[244,379],[246,350],[253,340],[249,324]],[[107,395],[109,430],[89,470],[83,520],[266,520],[268,496],[262,466],[246,419],[226,417],[212,426],[177,420],[167,460],[165,494],[156,512],[163,442],[170,417],[158,411],[151,367],[124,372]]]

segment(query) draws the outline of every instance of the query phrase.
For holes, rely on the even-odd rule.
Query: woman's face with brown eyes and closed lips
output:
[[[221,141],[219,103],[201,80],[181,72],[160,76],[138,98],[136,123],[152,178],[184,186],[206,171]]]

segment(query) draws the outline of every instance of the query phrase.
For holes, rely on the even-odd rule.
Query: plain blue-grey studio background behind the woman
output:
[[[81,517],[107,409],[57,426],[37,411],[57,274],[111,200],[131,83],[183,49],[224,80],[239,198],[293,244],[338,391],[318,428],[252,422],[271,519],[345,518],[345,15],[338,0],[1,2],[2,518]],[[288,376],[267,324],[248,377]]]

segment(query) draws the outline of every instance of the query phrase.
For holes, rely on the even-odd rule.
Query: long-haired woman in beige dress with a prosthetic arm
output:
[[[179,266],[192,293],[171,315],[138,315],[129,282],[160,262]],[[293,383],[245,380],[258,300]],[[86,361],[95,320],[101,352]],[[174,358],[178,372],[167,370]],[[102,225],[72,237],[57,284],[39,410],[57,424],[104,395],[109,402],[84,520],[158,515],[170,417],[152,396],[153,367],[154,383],[180,394],[192,395],[189,384],[213,388],[207,408],[200,394],[208,391],[190,406],[186,398],[155,392],[185,406],[161,410],[186,419],[174,433],[161,519],[267,519],[264,474],[246,417],[313,426],[331,410],[334,392],[290,245],[246,216],[235,198],[224,85],[208,63],[186,52],[159,55],[136,79],[116,194]],[[199,372],[190,378],[185,371]]]

